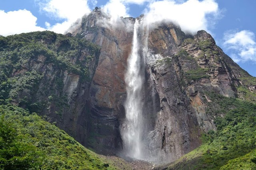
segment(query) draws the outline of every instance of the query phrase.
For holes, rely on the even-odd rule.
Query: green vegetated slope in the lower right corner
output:
[[[203,135],[204,145],[176,161],[172,169],[256,169],[256,104],[208,93],[207,114],[217,117],[217,131]],[[181,161],[184,162],[181,162]]]

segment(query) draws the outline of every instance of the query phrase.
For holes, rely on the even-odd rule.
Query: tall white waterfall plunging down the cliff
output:
[[[123,131],[124,147],[127,156],[142,158],[142,106],[141,89],[143,78],[141,75],[141,59],[139,55],[138,31],[139,22],[134,24],[132,53],[128,57],[128,67],[125,74],[127,98],[125,102],[126,128]]]

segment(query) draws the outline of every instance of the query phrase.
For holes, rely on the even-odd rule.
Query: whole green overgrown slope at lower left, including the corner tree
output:
[[[0,117],[1,170],[114,168],[36,113],[8,104]]]

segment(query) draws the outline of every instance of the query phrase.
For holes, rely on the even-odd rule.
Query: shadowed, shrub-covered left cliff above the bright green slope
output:
[[[85,145],[86,102],[99,47],[50,31],[3,37],[0,43],[1,104],[10,98]]]

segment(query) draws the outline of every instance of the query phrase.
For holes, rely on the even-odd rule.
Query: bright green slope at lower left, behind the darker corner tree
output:
[[[122,162],[123,167],[115,167],[112,160],[86,149],[67,133],[44,121],[36,113],[29,114],[20,107],[8,104],[0,106],[0,115],[4,115],[4,121],[14,124],[22,143],[29,143],[37,148],[37,152],[43,159],[40,162],[42,170],[130,168],[124,162]]]

